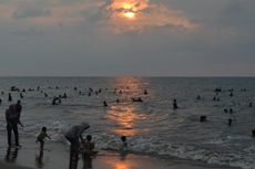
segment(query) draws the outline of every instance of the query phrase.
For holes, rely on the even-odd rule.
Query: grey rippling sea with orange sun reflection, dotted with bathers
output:
[[[252,77],[0,77],[0,137],[6,137],[4,110],[20,99],[22,137],[35,139],[42,126],[52,140],[67,144],[63,133],[71,125],[88,122],[98,149],[118,149],[128,136],[134,154],[178,157],[208,163],[255,168],[255,78]],[[38,91],[37,87],[40,86]],[[74,87],[78,89],[75,91]],[[222,92],[215,93],[221,87]],[[34,91],[30,91],[32,88]],[[89,96],[89,88],[93,89]],[[101,88],[101,93],[95,91]],[[233,88],[233,96],[230,89]],[[144,95],[144,89],[147,95]],[[121,92],[120,92],[121,91]],[[49,96],[44,97],[44,93]],[[67,93],[60,105],[53,96]],[[200,95],[201,99],[196,99]],[[220,101],[213,101],[216,96]],[[132,98],[141,97],[142,103]],[[178,108],[173,109],[173,99]],[[116,99],[120,103],[116,103]],[[103,102],[108,107],[103,107]],[[253,103],[253,107],[248,104]],[[233,114],[224,113],[233,108]],[[200,116],[207,122],[201,123]],[[233,124],[228,126],[228,118]]]

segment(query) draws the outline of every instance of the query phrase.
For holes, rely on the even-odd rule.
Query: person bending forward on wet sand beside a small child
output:
[[[82,133],[88,129],[90,125],[88,123],[81,123],[79,125],[72,126],[65,134],[65,138],[69,140],[70,145],[70,161],[69,169],[76,169],[79,159],[79,148],[80,141],[83,141]]]

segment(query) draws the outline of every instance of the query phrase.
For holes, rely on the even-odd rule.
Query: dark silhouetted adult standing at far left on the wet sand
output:
[[[11,133],[13,130],[16,137],[16,146],[20,147],[19,145],[19,130],[18,124],[23,127],[20,122],[20,113],[21,113],[21,105],[20,102],[16,105],[10,105],[9,108],[6,110],[6,120],[7,120],[7,134],[8,134],[8,146],[11,147]]]

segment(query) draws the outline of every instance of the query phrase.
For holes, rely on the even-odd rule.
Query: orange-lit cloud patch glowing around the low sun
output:
[[[182,28],[197,27],[181,11],[166,8],[163,4],[150,3],[147,0],[112,0],[106,7],[108,24],[114,32],[142,32],[150,28]]]

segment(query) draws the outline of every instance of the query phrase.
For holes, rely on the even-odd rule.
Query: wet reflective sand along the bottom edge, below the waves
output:
[[[45,142],[43,157],[39,159],[39,145],[32,140],[22,139],[20,149],[8,151],[2,139],[0,145],[1,169],[68,169],[69,146],[64,144]],[[24,144],[27,142],[27,144]],[[23,167],[21,167],[23,166]],[[78,169],[82,169],[83,161],[79,160]],[[157,158],[100,150],[92,159],[93,169],[237,169],[225,166],[208,165],[200,161],[182,160],[176,158]]]

